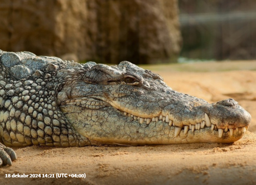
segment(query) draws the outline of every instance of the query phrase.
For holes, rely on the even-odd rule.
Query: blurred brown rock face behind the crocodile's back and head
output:
[[[80,61],[175,61],[177,0],[0,0],[0,49]]]

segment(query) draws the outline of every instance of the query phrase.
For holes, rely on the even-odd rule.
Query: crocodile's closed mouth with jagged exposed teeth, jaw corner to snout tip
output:
[[[73,108],[71,108],[73,107]],[[88,98],[88,97],[79,97],[74,99],[67,99],[64,102],[60,103],[60,108],[65,114],[66,117],[68,116],[68,113],[71,113],[72,111],[77,111],[79,113],[82,113],[86,110],[102,110],[103,108],[114,108],[115,111],[118,113],[117,115],[122,115],[126,119],[127,123],[134,123],[136,122],[138,125],[141,125],[139,127],[151,127],[152,125],[163,125],[163,127],[168,127],[169,132],[172,132],[173,138],[196,138],[196,135],[201,135],[200,137],[208,137],[206,139],[206,142],[214,142],[215,140],[218,142],[225,142],[230,143],[238,140],[239,138],[246,133],[248,125],[242,126],[242,127],[234,127],[233,124],[230,124],[230,126],[227,126],[225,128],[219,128],[216,124],[213,124],[210,121],[210,118],[207,113],[205,113],[204,117],[202,118],[202,121],[196,124],[182,124],[182,127],[177,126],[173,120],[171,120],[171,116],[168,114],[159,112],[156,113],[154,117],[143,117],[139,116],[139,113],[137,115],[133,115],[131,113],[125,112],[121,110],[121,108],[115,108],[110,103],[105,102],[101,99],[97,98]],[[134,111],[133,111],[134,112]],[[72,122],[72,121],[71,121]],[[221,124],[220,124],[221,125]],[[229,125],[229,124],[228,124]],[[199,138],[200,138],[199,137]],[[211,137],[215,138],[213,141],[211,141]],[[219,138],[219,139],[218,139]],[[226,141],[222,141],[222,139],[226,139]],[[196,141],[193,141],[196,142]],[[199,141],[198,141],[199,142]],[[201,141],[200,141],[201,142]],[[122,143],[122,142],[120,142]],[[186,143],[186,142],[185,142]],[[189,142],[188,142],[189,143]]]

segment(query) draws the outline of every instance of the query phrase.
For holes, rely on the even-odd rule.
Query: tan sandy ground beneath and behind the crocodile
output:
[[[165,82],[177,91],[208,102],[236,99],[251,113],[252,123],[250,132],[234,144],[14,148],[18,159],[12,166],[0,168],[0,184],[256,184],[256,62],[230,64],[185,65],[188,69],[197,69],[197,72],[177,72],[182,65],[178,65],[178,68],[175,65],[150,68],[162,75]],[[205,68],[202,67],[204,65]],[[235,67],[230,69],[230,66]],[[56,173],[85,173],[86,178],[56,178]],[[41,177],[6,178],[6,174],[41,174]],[[42,177],[43,174],[54,174],[54,178]]]

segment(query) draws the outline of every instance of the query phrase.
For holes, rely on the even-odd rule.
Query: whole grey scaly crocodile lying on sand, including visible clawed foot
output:
[[[179,93],[128,61],[108,66],[0,50],[0,164],[9,146],[232,143],[250,114]]]

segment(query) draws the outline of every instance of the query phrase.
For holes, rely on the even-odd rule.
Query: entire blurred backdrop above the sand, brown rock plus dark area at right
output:
[[[0,0],[0,49],[118,64],[256,58],[255,0]]]

